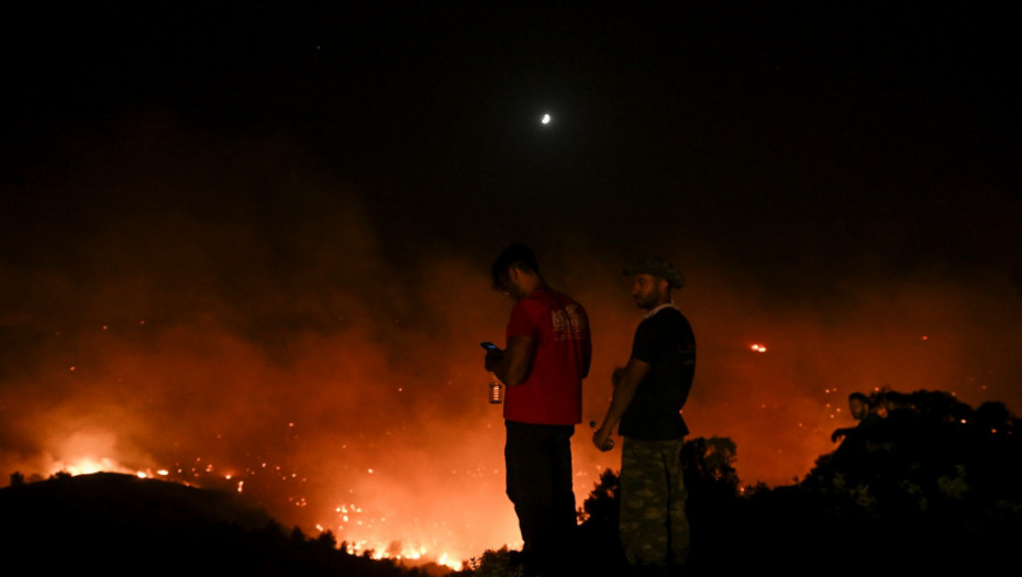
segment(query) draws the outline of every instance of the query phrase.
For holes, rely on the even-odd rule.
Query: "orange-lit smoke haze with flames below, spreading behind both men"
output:
[[[388,256],[355,193],[270,156],[220,176],[164,152],[159,168],[125,176],[115,167],[142,158],[118,152],[52,184],[82,191],[64,196],[78,199],[75,217],[57,210],[4,264],[2,470],[92,459],[230,476],[281,521],[368,548],[400,541],[463,559],[514,546],[478,347],[502,341],[510,307],[488,287],[501,243]],[[71,245],[54,241],[66,228]],[[592,318],[588,419],[606,407],[638,311],[624,251],[580,245],[537,251]],[[853,390],[1020,407],[1022,307],[997,278],[847,282],[795,300],[757,293],[701,251],[679,256],[678,301],[699,340],[686,418],[693,435],[737,442],[746,484],[803,475],[848,424]],[[575,458],[579,500],[618,466],[585,428]]]

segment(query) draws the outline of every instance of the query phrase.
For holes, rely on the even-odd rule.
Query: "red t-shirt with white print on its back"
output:
[[[523,382],[508,387],[504,419],[533,424],[582,420],[582,379],[592,344],[582,306],[551,289],[536,289],[514,303],[507,336],[527,336],[536,351]]]

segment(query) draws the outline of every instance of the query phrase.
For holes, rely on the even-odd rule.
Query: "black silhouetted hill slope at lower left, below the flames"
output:
[[[0,551],[8,568],[38,575],[357,576],[449,574],[408,568],[308,539],[235,493],[98,473],[0,489]]]

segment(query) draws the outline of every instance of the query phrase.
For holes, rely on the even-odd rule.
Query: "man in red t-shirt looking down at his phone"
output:
[[[570,441],[581,422],[582,379],[592,356],[589,318],[581,304],[546,285],[527,246],[504,249],[492,277],[493,287],[514,301],[507,347],[486,355],[486,369],[507,386],[508,497],[522,531],[526,575],[556,575],[576,528]]]

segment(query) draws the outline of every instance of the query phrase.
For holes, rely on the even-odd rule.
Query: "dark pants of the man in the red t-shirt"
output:
[[[571,435],[575,425],[504,421],[508,497],[514,503],[526,574],[554,575],[574,555],[575,491]]]

